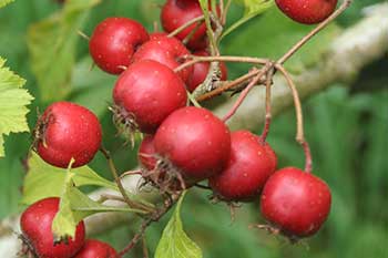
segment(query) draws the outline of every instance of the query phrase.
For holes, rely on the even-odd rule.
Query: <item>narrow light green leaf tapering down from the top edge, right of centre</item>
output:
[[[252,18],[262,14],[274,4],[274,0],[238,0],[238,2],[242,1],[245,6],[244,16],[238,21],[233,23],[229,28],[227,28],[222,34],[221,39],[229,34],[232,31],[236,30],[245,22],[249,21]]]

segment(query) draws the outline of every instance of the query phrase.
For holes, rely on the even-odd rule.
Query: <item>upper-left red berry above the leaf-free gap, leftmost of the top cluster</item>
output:
[[[94,63],[103,71],[120,74],[130,65],[136,48],[149,40],[149,33],[137,21],[106,18],[96,25],[89,42]]]

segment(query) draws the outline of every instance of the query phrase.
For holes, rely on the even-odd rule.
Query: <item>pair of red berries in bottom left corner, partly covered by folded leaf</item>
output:
[[[51,226],[59,210],[60,199],[50,197],[28,207],[20,218],[25,255],[39,258],[116,258],[118,252],[109,244],[85,240],[85,226],[80,221],[74,238],[55,241]],[[30,256],[29,256],[30,257]]]

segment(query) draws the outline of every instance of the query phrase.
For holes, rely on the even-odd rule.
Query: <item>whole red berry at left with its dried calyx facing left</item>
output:
[[[51,104],[39,118],[37,152],[57,167],[79,167],[93,159],[101,145],[99,118],[88,109],[70,102]]]

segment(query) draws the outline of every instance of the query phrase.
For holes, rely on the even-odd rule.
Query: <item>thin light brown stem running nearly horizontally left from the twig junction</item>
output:
[[[187,66],[194,65],[201,62],[238,62],[238,63],[254,63],[254,64],[266,64],[267,59],[257,59],[249,56],[234,56],[234,55],[217,55],[217,56],[200,56],[200,55],[188,55],[187,59],[192,59],[174,69],[174,72],[180,72]]]

